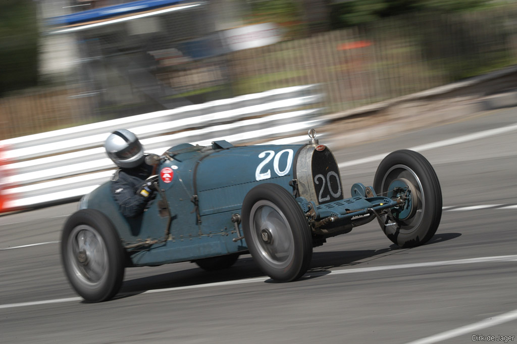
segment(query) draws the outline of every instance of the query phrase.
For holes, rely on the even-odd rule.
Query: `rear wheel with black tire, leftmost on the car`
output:
[[[68,218],[61,238],[61,258],[73,289],[86,302],[115,296],[124,279],[125,254],[111,221],[93,209]]]

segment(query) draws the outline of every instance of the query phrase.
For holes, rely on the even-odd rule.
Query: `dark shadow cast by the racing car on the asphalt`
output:
[[[436,234],[425,245],[441,243],[459,236],[461,236],[460,233]],[[378,250],[314,252],[307,274],[300,278],[299,281],[325,276],[330,273],[332,268],[360,266],[361,264],[390,255],[407,253],[408,250],[410,248],[400,248],[397,245],[391,245],[388,248]],[[231,282],[257,277],[264,277],[267,283],[276,283],[264,276],[264,273],[258,268],[258,265],[255,264],[250,255],[241,256],[232,267],[219,271],[204,271],[195,264],[191,266],[192,268],[189,266],[189,268],[180,271],[154,275],[152,270],[150,270],[149,276],[127,279],[124,281],[120,293],[115,298],[130,297],[150,290],[192,287],[208,283]]]

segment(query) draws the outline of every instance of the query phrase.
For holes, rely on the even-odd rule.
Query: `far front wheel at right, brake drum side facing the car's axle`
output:
[[[442,218],[442,189],[431,163],[420,153],[403,149],[390,153],[375,172],[373,188],[378,196],[392,197],[390,185],[408,185],[412,203],[392,208],[379,225],[400,247],[428,242]],[[403,213],[403,215],[401,215]]]

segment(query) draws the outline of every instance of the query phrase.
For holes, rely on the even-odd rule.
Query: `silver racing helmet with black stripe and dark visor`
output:
[[[133,168],[144,162],[144,147],[127,129],[113,131],[104,143],[106,153],[120,168]]]

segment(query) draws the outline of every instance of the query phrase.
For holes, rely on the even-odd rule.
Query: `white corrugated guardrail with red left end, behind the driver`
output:
[[[293,140],[325,122],[322,99],[319,85],[285,87],[0,140],[0,213],[77,201],[108,181],[115,165],[103,143],[115,129],[133,131],[157,154],[185,142]]]

